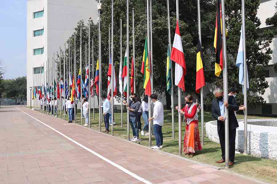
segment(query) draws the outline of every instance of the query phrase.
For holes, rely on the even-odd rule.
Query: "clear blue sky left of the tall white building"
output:
[[[0,60],[5,79],[26,76],[27,0],[1,0]]]

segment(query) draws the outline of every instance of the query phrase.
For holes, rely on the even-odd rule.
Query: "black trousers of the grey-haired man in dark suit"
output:
[[[222,126],[218,131],[219,142],[221,147],[221,156],[225,160],[225,127]],[[235,140],[236,140],[236,128],[229,129],[229,162],[235,160]]]

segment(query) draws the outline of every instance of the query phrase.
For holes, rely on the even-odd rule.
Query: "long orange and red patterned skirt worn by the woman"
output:
[[[198,150],[202,150],[198,121],[191,121],[191,123],[186,126],[183,151],[185,153],[195,153],[195,151]]]

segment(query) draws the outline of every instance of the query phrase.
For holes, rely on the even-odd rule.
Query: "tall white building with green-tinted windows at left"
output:
[[[95,0],[28,0],[27,1],[27,104],[33,86],[33,69],[43,66],[53,53],[64,46],[78,21],[91,17],[97,21]],[[51,63],[50,63],[51,64]],[[36,86],[36,85],[34,85]],[[39,85],[37,85],[39,86]],[[33,102],[32,102],[33,103]]]

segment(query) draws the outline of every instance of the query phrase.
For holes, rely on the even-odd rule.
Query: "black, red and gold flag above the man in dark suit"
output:
[[[218,0],[216,21],[215,21],[215,75],[219,77],[223,70],[223,41],[222,41],[222,15],[221,0]]]

